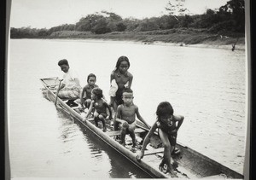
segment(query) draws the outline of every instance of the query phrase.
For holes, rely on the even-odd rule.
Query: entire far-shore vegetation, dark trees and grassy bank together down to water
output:
[[[87,15],[75,24],[54,26],[49,29],[37,29],[30,26],[11,27],[10,38],[122,38],[166,41],[164,35],[176,33],[181,38],[181,34],[185,36],[185,34],[199,34],[198,32],[204,34],[204,38],[220,34],[224,37],[244,37],[244,0],[230,0],[218,10],[207,9],[203,15],[183,15],[183,13],[174,15],[172,7],[174,5],[170,2],[166,6],[169,15],[143,20],[122,19],[119,15],[102,11],[101,14]],[[185,9],[179,5],[174,10],[183,12]],[[214,35],[209,36],[209,34]],[[172,42],[173,37],[175,36],[172,36]],[[179,39],[177,42],[182,42],[181,40]]]

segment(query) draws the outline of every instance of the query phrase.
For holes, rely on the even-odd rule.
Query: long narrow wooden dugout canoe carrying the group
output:
[[[150,142],[145,150],[143,160],[137,161],[136,156],[139,151],[138,148],[131,148],[131,137],[125,136],[126,146],[123,147],[118,141],[115,140],[115,136],[120,134],[120,131],[113,131],[113,126],[110,125],[110,120],[107,122],[107,131],[103,132],[102,128],[97,128],[94,125],[93,119],[85,120],[83,112],[80,112],[77,107],[69,107],[66,102],[59,97],[56,98],[56,89],[51,89],[50,86],[59,84],[58,78],[40,78],[44,85],[43,93],[44,97],[51,102],[55,102],[57,107],[64,110],[69,114],[76,123],[82,125],[87,130],[94,133],[103,142],[112,147],[119,154],[125,156],[127,160],[130,160],[134,165],[137,165],[142,171],[148,173],[151,177],[160,178],[172,178],[169,173],[164,173],[159,170],[160,161],[163,158],[163,151],[160,143],[160,138],[157,133],[151,137]],[[137,121],[136,136],[138,144],[142,145],[143,138],[147,135],[148,129],[143,123]],[[229,167],[221,165],[215,160],[208,158],[207,156],[196,152],[192,148],[184,146],[181,143],[177,143],[179,149],[178,154],[172,156],[173,166],[177,173],[177,177],[181,178],[238,178],[243,179],[243,175],[231,170]]]

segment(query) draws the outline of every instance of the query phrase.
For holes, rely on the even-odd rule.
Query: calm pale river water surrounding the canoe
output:
[[[124,42],[12,39],[9,60],[10,164],[14,177],[147,177],[46,101],[39,78],[67,58],[82,86],[89,73],[108,99],[120,55],[131,61],[134,102],[152,125],[159,102],[185,116],[177,141],[242,173],[245,52]]]

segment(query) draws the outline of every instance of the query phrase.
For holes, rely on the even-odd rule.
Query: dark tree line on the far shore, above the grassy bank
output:
[[[169,3],[169,5],[172,5]],[[102,11],[100,13],[87,15],[75,24],[64,24],[46,28],[21,27],[10,29],[10,38],[49,38],[58,32],[83,32],[91,34],[105,34],[108,32],[148,32],[169,30],[176,28],[194,28],[209,33],[245,31],[245,4],[244,0],[230,0],[218,10],[207,9],[203,15],[173,15],[172,9],[169,15],[160,17],[122,19],[115,13]],[[179,9],[180,11],[182,9]]]

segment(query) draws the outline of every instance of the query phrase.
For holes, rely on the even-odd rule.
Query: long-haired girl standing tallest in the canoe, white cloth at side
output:
[[[110,106],[113,107],[113,112],[116,112],[117,107],[123,103],[122,92],[127,88],[131,88],[132,74],[128,72],[130,61],[126,56],[120,56],[116,62],[115,69],[110,75]],[[115,116],[113,119],[114,130],[118,130],[118,124],[115,123]]]

